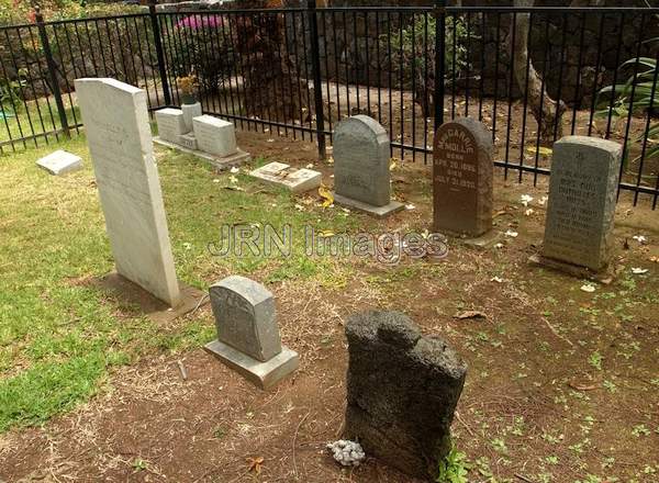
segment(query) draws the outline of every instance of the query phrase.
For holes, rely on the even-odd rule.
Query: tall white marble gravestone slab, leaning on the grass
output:
[[[146,93],[76,79],[78,105],[119,274],[170,306],[181,301],[154,160]]]

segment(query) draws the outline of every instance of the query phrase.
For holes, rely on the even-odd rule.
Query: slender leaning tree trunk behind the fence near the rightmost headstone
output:
[[[533,7],[533,0],[515,0],[515,7]],[[538,123],[538,132],[543,144],[551,144],[562,136],[562,115],[566,103],[549,97],[543,79],[533,66],[528,54],[528,36],[530,14],[517,13],[515,24],[515,44],[513,46],[515,79],[522,92],[526,92],[528,106]],[[527,67],[528,66],[528,70]],[[527,76],[528,71],[528,76]]]

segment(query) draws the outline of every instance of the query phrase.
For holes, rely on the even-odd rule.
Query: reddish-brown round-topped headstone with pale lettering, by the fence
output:
[[[492,135],[471,117],[443,124],[433,150],[437,232],[478,237],[492,228]]]

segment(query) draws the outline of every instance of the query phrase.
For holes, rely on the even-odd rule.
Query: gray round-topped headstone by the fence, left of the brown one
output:
[[[334,200],[376,216],[402,210],[391,201],[389,149],[387,131],[376,120],[342,121],[334,133]]]

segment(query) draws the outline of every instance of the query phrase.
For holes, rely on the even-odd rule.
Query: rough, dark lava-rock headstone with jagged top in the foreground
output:
[[[437,476],[467,367],[442,339],[422,336],[399,312],[365,312],[346,323],[345,436],[413,476]]]

